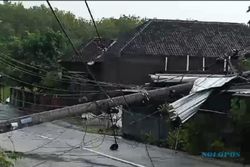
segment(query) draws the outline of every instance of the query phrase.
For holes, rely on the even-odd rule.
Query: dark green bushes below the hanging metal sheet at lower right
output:
[[[192,154],[200,154],[203,151],[240,150],[242,143],[239,142],[246,140],[241,139],[242,136],[249,135],[246,134],[249,133],[249,130],[246,130],[249,129],[249,107],[249,100],[233,98],[231,100],[231,110],[227,118],[224,116],[222,119],[222,117],[215,114],[198,113],[179,129],[170,126],[167,145],[169,148],[174,149],[178,139],[177,149]],[[160,106],[159,110],[161,112],[168,111],[168,105]],[[225,143],[222,134],[226,130],[232,130],[232,137],[227,139],[232,143]]]

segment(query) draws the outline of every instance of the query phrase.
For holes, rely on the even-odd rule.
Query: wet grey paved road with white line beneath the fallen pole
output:
[[[83,138],[85,145],[81,142]],[[144,144],[119,138],[119,150],[110,151],[113,137],[89,133],[84,135],[84,132],[62,121],[0,134],[0,141],[0,147],[4,149],[25,153],[24,158],[16,162],[16,167],[152,166]],[[148,150],[155,167],[242,166],[175,153],[151,145]]]

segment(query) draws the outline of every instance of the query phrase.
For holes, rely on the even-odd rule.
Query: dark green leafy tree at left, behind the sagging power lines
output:
[[[66,46],[66,40],[60,32],[54,32],[51,29],[47,29],[44,33],[26,32],[20,38],[15,37],[7,45],[9,56],[15,62],[8,57],[3,57],[5,62],[14,64],[14,67],[7,66],[5,72],[18,80],[24,81],[23,83],[16,82],[19,86],[32,89],[32,84],[43,85],[48,78],[44,71],[61,71],[58,60],[62,58]],[[26,65],[20,64],[19,61]],[[31,66],[35,66],[37,69]],[[51,84],[50,86],[53,87]]]

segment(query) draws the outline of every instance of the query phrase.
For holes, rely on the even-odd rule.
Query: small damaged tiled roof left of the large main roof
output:
[[[64,60],[67,62],[90,62],[101,60],[101,55],[104,48],[108,48],[112,44],[113,40],[101,38],[101,42],[98,38],[94,38],[89,41],[86,45],[78,47],[80,55],[73,54],[68,59]]]

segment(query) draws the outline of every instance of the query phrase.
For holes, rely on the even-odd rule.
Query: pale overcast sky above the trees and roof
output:
[[[25,7],[46,4],[45,1],[20,1]],[[247,23],[247,1],[89,1],[96,20],[103,17],[135,15],[142,18],[181,19]],[[51,1],[51,5],[90,19],[84,1]]]

